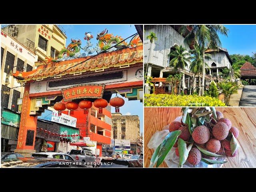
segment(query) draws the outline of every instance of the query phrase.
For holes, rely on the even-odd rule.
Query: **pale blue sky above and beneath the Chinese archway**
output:
[[[70,44],[71,38],[78,38],[82,41],[82,47],[86,45],[86,41],[84,40],[84,33],[91,32],[94,36],[90,41],[95,46],[98,42],[96,40],[97,33],[102,32],[105,28],[108,29],[108,33],[112,33],[114,36],[118,35],[122,38],[127,38],[132,34],[135,34],[136,28],[134,25],[62,25],[64,30],[66,31],[66,36],[68,37],[66,40],[66,46]],[[130,39],[127,40],[130,42]],[[84,52],[81,50],[81,53]],[[94,53],[95,54],[95,53]],[[112,95],[112,97],[114,97]],[[119,97],[122,97],[118,94]],[[124,98],[125,103],[124,106],[120,107],[120,113],[123,115],[138,115],[140,117],[140,132],[143,130],[143,105],[139,100],[136,101],[128,101],[127,98]],[[111,112],[115,112],[115,108],[111,108]]]

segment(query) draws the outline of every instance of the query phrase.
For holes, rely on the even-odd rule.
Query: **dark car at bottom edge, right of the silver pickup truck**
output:
[[[137,159],[114,159],[106,158],[101,160],[100,168],[142,168],[143,164]]]

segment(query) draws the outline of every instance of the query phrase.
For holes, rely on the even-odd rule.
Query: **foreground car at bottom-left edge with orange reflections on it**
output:
[[[1,161],[1,168],[86,168],[70,160],[53,158],[16,158]]]

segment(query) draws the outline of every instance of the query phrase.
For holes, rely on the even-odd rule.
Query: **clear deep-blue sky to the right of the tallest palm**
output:
[[[252,56],[256,52],[256,25],[224,25],[229,29],[228,37],[220,35],[222,47],[228,53]]]

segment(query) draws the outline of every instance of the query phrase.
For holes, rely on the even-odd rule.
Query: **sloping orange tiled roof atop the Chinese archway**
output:
[[[91,56],[41,65],[36,70],[30,72],[22,72],[22,77],[24,80],[18,80],[18,82],[43,80],[44,78],[53,77],[54,75],[59,74],[60,72],[72,66],[75,66],[79,62],[81,62],[79,65],[66,70],[64,73],[55,76],[55,78],[59,78],[68,74],[78,75],[86,71],[100,72],[104,71],[106,68],[111,67],[129,67],[132,64],[143,62],[143,45],[102,53],[90,60],[85,61],[90,57]],[[16,71],[16,73],[13,74],[14,78],[18,76],[19,73],[19,71]]]

